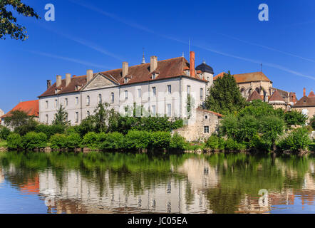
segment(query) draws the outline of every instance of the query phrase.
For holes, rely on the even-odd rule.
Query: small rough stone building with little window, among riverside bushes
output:
[[[222,115],[212,113],[207,110],[196,109],[187,125],[183,128],[174,130],[173,133],[182,135],[188,142],[205,141],[217,131]],[[205,132],[205,127],[209,127],[209,133]]]

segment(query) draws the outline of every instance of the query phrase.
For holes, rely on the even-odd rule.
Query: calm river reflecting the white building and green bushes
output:
[[[0,152],[0,213],[315,213],[315,157]]]

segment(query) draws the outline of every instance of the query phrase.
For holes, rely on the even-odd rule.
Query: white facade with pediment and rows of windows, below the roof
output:
[[[205,73],[210,82],[200,81],[189,76],[177,76],[160,80],[120,85],[101,73],[86,83],[81,90],[39,98],[39,120],[51,124],[59,105],[68,112],[71,125],[78,125],[81,120],[93,115],[98,103],[109,103],[119,113],[125,114],[125,108],[133,104],[143,105],[151,115],[169,117],[187,116],[187,94],[192,97],[192,109],[203,105],[206,90],[212,85],[212,75]]]

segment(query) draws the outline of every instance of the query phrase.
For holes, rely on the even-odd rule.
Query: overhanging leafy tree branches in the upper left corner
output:
[[[31,8],[21,2],[21,0],[1,0],[0,1],[0,38],[5,39],[6,36],[11,36],[16,40],[25,41],[29,36],[24,26],[16,23],[16,17],[7,8],[13,8],[18,14],[23,16],[39,18],[38,14]]]

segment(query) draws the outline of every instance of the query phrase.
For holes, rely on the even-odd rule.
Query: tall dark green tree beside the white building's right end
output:
[[[224,73],[223,77],[217,78],[213,86],[209,88],[205,100],[208,110],[217,113],[228,114],[243,108],[246,100],[239,92],[235,78],[231,73]]]

